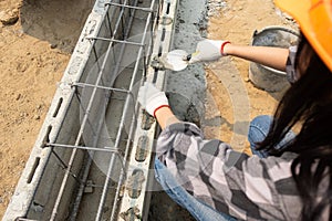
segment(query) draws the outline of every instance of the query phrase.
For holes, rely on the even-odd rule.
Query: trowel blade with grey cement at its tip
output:
[[[191,54],[184,50],[174,50],[152,61],[152,66],[159,70],[181,71],[188,66]]]

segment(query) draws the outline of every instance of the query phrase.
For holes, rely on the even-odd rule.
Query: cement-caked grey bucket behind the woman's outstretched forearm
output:
[[[299,34],[283,27],[267,27],[255,31],[251,45],[288,49],[297,45]],[[249,65],[249,78],[255,86],[267,92],[279,92],[290,86],[286,72],[278,71],[255,62]]]

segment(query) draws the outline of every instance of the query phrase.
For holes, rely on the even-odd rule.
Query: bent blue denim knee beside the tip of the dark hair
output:
[[[269,115],[259,115],[255,117],[249,125],[248,139],[251,144],[261,141],[267,136],[272,117]]]

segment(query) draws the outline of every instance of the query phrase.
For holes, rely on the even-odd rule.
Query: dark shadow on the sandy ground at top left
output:
[[[71,53],[93,3],[94,0],[23,0],[20,9],[23,32]]]

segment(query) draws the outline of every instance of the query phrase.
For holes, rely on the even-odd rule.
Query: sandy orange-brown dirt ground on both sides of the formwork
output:
[[[209,20],[210,39],[248,44],[267,25],[290,25],[272,0],[221,0]],[[0,217],[14,191],[93,0],[0,0]],[[1,19],[2,18],[2,19]],[[279,94],[248,80],[248,62],[231,59],[250,102],[250,117],[271,114]],[[220,137],[230,141],[234,115],[224,82],[207,66],[208,92],[222,116]],[[243,144],[248,146],[248,144]]]

